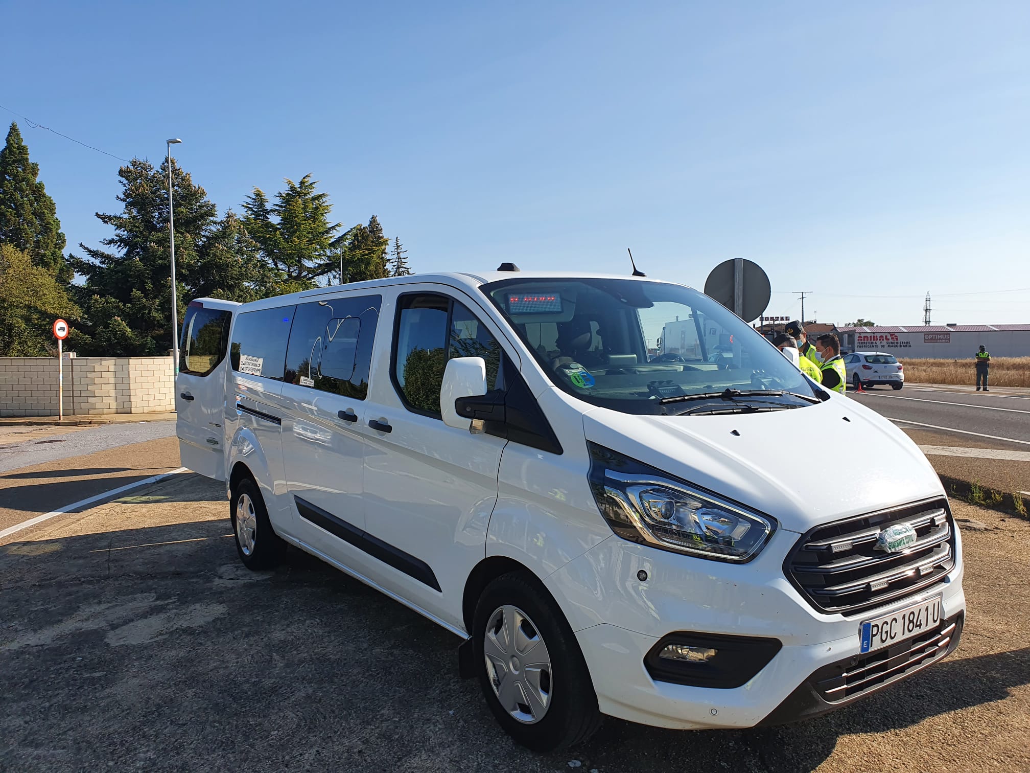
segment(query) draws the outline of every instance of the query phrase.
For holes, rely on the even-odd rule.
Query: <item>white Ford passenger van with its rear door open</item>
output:
[[[530,748],[603,714],[814,716],[958,644],[926,458],[681,284],[504,264],[205,298],[180,367],[182,464],[226,480],[243,563],[295,545],[456,634]]]

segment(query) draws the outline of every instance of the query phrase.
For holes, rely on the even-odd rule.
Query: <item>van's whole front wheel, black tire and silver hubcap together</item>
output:
[[[490,582],[473,626],[483,696],[512,738],[552,751],[597,730],[597,697],[576,635],[530,578],[512,572]]]

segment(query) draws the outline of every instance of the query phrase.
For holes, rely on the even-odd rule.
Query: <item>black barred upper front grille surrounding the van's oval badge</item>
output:
[[[901,552],[876,549],[883,529],[908,524],[916,541]],[[947,499],[819,526],[798,540],[784,572],[816,609],[852,616],[939,582],[955,566]]]

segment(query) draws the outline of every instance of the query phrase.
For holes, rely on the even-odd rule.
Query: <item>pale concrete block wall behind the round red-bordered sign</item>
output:
[[[66,416],[171,411],[175,409],[172,358],[67,359],[64,394]],[[57,358],[0,358],[0,416],[56,415]]]

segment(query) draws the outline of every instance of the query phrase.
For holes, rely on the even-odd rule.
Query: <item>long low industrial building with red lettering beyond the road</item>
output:
[[[1030,357],[1030,325],[906,325],[836,328],[845,351],[888,351],[916,360],[971,360],[981,344],[991,357]]]

